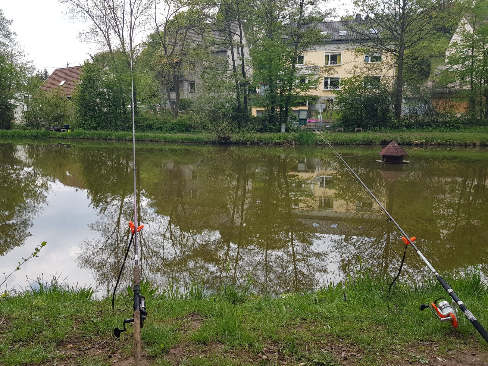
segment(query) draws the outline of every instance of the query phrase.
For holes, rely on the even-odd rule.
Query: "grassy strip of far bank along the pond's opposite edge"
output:
[[[325,133],[327,140],[339,145],[378,145],[395,140],[403,145],[470,145],[487,146],[488,131],[388,131],[363,133]],[[44,130],[0,130],[0,140],[108,140],[131,141],[131,132],[82,131],[56,133]],[[148,142],[194,142],[219,143],[209,133],[160,133],[137,132],[137,141]],[[304,133],[249,133],[239,132],[231,135],[229,143],[257,145],[323,145],[325,142],[317,134]]]

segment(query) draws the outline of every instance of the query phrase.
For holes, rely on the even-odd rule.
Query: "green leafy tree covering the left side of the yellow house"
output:
[[[267,110],[268,129],[275,131],[288,121],[290,107],[313,94],[324,69],[316,64],[298,67],[299,58],[324,39],[316,24],[318,1],[260,0],[253,33],[254,81],[260,88],[256,104]]]

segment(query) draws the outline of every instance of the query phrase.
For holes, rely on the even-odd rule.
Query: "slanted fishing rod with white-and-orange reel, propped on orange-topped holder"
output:
[[[334,152],[335,156],[339,158],[339,160],[349,169],[349,171],[354,175],[355,181],[361,183],[363,187],[366,189],[366,191],[369,193],[369,195],[373,198],[373,200],[376,201],[378,206],[383,210],[383,212],[386,214],[386,217],[388,218],[386,222],[392,223],[403,235],[402,240],[405,243],[405,251],[407,250],[408,245],[411,245],[412,248],[417,252],[417,254],[420,256],[420,258],[424,261],[425,264],[427,264],[427,267],[430,269],[430,271],[434,274],[436,277],[437,281],[441,284],[441,286],[447,291],[449,296],[452,299],[452,303],[449,305],[447,300],[443,297],[436,299],[434,302],[432,302],[430,305],[425,305],[421,304],[419,309],[420,310],[425,310],[427,307],[430,307],[432,312],[439,318],[441,322],[450,322],[452,326],[457,328],[457,311],[456,311],[456,305],[461,309],[463,314],[468,318],[469,322],[474,326],[474,328],[480,333],[480,335],[483,337],[483,339],[488,343],[488,332],[486,329],[481,325],[481,323],[474,317],[474,315],[471,313],[471,311],[468,310],[468,307],[459,299],[457,294],[454,292],[454,290],[451,288],[451,286],[447,283],[447,281],[439,274],[437,271],[434,269],[432,264],[430,264],[429,261],[427,261],[427,258],[424,257],[424,255],[421,253],[421,251],[417,248],[413,242],[415,241],[415,237],[410,238],[405,231],[402,229],[402,227],[395,221],[395,219],[391,216],[391,214],[386,210],[386,208],[381,204],[381,202],[376,198],[376,196],[371,192],[371,190],[366,186],[366,184],[359,178],[359,176],[356,174],[356,172],[349,166],[349,164],[344,160],[344,158],[334,149],[334,147],[330,144],[329,141],[325,140],[324,136],[317,130],[315,130],[316,133],[319,134],[319,136],[322,138],[322,140],[325,141],[325,143],[328,145],[328,147]],[[403,255],[403,260],[402,260],[402,265],[403,261],[405,260],[405,252]],[[402,265],[400,266],[400,271],[402,270]],[[398,272],[397,276],[392,282],[395,282],[395,280],[398,278],[400,275],[400,271]],[[391,288],[391,285],[390,285]]]

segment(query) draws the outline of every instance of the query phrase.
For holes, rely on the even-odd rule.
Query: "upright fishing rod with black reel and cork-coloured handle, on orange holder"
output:
[[[130,47],[130,79],[131,79],[131,91],[132,91],[132,160],[133,160],[133,172],[134,172],[134,223],[130,222],[129,227],[132,232],[131,241],[127,247],[127,252],[125,254],[125,258],[127,258],[127,253],[130,248],[130,244],[132,242],[132,238],[134,239],[134,270],[133,270],[133,281],[132,281],[132,290],[134,293],[134,316],[131,319],[124,319],[123,321],[123,328],[115,328],[114,335],[119,338],[121,333],[127,330],[125,325],[127,323],[134,323],[134,365],[140,366],[141,365],[141,328],[144,326],[144,320],[146,319],[147,312],[145,306],[145,298],[141,294],[141,270],[139,268],[139,247],[138,247],[138,232],[144,227],[143,225],[138,226],[137,223],[137,186],[136,186],[136,123],[134,118],[135,113],[135,101],[134,101],[134,74],[133,74],[133,55],[132,55],[132,43]],[[125,263],[125,259],[124,259]],[[122,264],[123,269],[123,264]],[[121,269],[121,273],[122,273]],[[120,274],[119,274],[120,279]],[[119,280],[117,280],[118,284]],[[116,284],[116,286],[117,286]],[[113,298],[115,298],[115,289]],[[112,300],[113,306],[113,300]]]

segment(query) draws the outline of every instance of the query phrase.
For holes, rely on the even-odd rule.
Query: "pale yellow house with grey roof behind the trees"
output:
[[[310,94],[306,105],[293,107],[293,113],[299,118],[300,124],[305,124],[309,118],[318,118],[320,104],[324,109],[323,119],[326,110],[334,108],[334,91],[341,88],[341,80],[349,78],[354,74],[365,75],[365,82],[384,80],[393,82],[395,68],[391,67],[392,62],[387,62],[385,55],[365,54],[360,52],[354,40],[357,39],[353,31],[355,26],[366,25],[358,14],[356,20],[349,21],[327,21],[318,24],[326,41],[315,45],[299,56],[297,66],[309,74],[311,69],[320,70],[317,77],[320,79],[317,89]],[[371,34],[378,33],[377,29],[369,29]],[[299,72],[300,74],[300,72]],[[299,82],[308,82],[300,79]],[[262,107],[252,107],[252,115],[260,116],[264,112]]]

